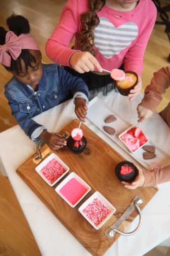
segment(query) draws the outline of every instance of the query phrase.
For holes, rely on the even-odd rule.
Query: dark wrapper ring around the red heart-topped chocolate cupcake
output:
[[[130,165],[130,167],[133,166],[134,171],[135,171],[134,176],[133,176],[133,177],[130,177],[129,180],[128,180],[128,179],[125,180],[125,179],[123,179],[123,177],[120,176],[120,170],[121,170],[121,167],[122,167],[124,164]],[[136,177],[137,177],[138,174],[139,174],[139,170],[138,170],[138,168],[136,167],[136,165],[134,165],[134,163],[129,162],[129,161],[122,161],[122,162],[119,162],[119,163],[117,164],[117,166],[115,167],[115,175],[118,177],[118,180],[121,181],[121,182],[124,181],[124,182],[129,182],[129,183],[131,183],[131,182],[133,182],[133,181],[136,179]],[[123,176],[123,175],[122,175],[122,176]],[[128,174],[127,174],[127,175],[124,175],[124,176],[128,177]]]

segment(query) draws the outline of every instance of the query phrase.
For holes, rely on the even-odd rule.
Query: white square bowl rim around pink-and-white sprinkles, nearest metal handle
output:
[[[92,222],[92,220],[83,212],[84,209],[86,209],[86,207],[90,207],[89,204],[93,203],[94,199],[98,199],[100,202],[102,202],[102,204],[105,205],[105,207],[110,210],[110,213],[108,213],[105,218],[99,223],[99,224],[95,224],[94,222]],[[113,215],[113,213],[116,211],[116,209],[113,207],[113,205],[107,200],[105,199],[105,197],[103,195],[101,195],[98,191],[96,191],[93,195],[91,195],[79,208],[78,211],[85,217],[85,219],[95,228],[95,229],[99,229],[103,226],[103,224],[108,221],[108,219]]]

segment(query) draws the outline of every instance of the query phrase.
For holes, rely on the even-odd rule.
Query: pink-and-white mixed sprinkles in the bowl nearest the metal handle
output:
[[[96,226],[98,226],[111,211],[103,202],[98,200],[98,198],[95,198],[85,207],[85,209],[83,209],[83,212]]]

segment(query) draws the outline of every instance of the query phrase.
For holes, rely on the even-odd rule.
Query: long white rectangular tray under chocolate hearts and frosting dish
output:
[[[117,120],[111,122],[110,124],[105,123],[105,118],[109,115],[115,115]],[[168,155],[165,151],[157,146],[153,141],[148,142],[146,145],[152,145],[156,148],[156,157],[149,160],[143,159],[143,152],[145,152],[142,148],[137,150],[136,153],[131,153],[128,150],[124,143],[122,143],[118,136],[123,133],[126,129],[130,128],[133,124],[129,123],[124,119],[123,116],[119,115],[113,108],[107,105],[104,101],[95,97],[89,102],[87,118],[92,121],[100,130],[102,130],[107,136],[109,136],[113,141],[115,141],[121,148],[123,148],[127,153],[129,153],[137,162],[143,165],[145,168],[149,168],[150,164],[153,162],[158,162],[163,166],[170,164],[170,155]],[[109,135],[103,129],[104,126],[111,126],[115,128],[116,132],[114,135]]]

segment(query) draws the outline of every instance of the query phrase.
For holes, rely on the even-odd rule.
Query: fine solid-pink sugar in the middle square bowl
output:
[[[75,178],[68,181],[59,192],[74,205],[78,200],[85,195],[87,189],[78,182]]]

